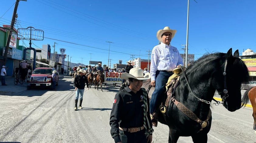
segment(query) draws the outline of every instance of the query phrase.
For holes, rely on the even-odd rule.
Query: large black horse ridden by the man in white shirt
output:
[[[179,85],[168,105],[164,105],[165,113],[158,115],[159,122],[169,127],[169,143],[176,143],[180,136],[191,136],[194,143],[206,143],[212,122],[210,104],[223,104],[231,112],[240,109],[240,87],[249,81],[249,73],[238,56],[238,50],[232,55],[232,48],[227,54],[207,54],[179,74]],[[154,87],[149,85],[150,80],[143,83],[151,96]],[[211,103],[216,90],[222,102]]]

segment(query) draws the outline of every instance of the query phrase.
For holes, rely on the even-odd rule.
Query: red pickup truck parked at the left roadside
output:
[[[50,67],[38,67],[33,70],[32,75],[27,79],[27,89],[30,90],[32,87],[49,87],[53,89],[52,84],[52,72],[54,68]],[[56,73],[57,81],[56,86],[59,84],[59,73]]]

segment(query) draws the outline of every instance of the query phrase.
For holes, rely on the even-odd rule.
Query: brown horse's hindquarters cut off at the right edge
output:
[[[251,102],[252,116],[254,119],[253,129],[255,130],[256,133],[256,86],[245,91],[244,96],[242,98],[242,107],[246,106],[249,100]]]

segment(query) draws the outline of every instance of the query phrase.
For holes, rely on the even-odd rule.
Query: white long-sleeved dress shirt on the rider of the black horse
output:
[[[172,71],[178,65],[183,66],[183,59],[176,47],[161,43],[155,46],[151,53],[150,76],[156,80],[157,70]]]

